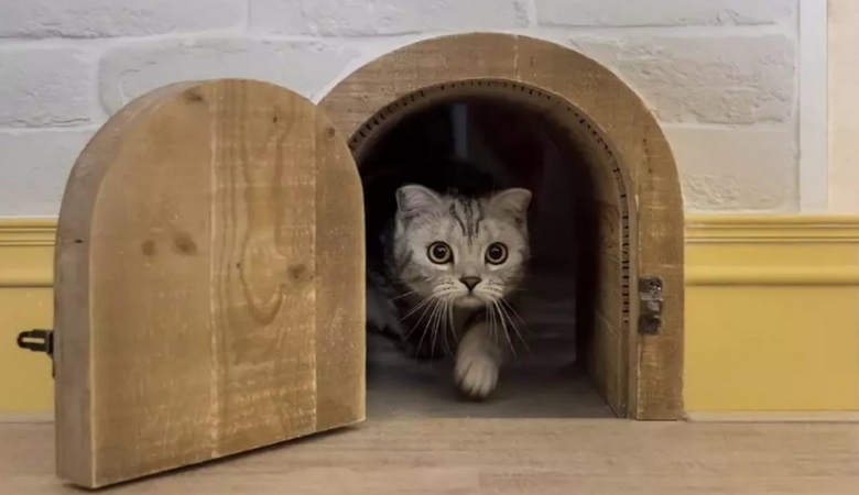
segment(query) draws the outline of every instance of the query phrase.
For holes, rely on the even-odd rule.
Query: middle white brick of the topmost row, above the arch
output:
[[[358,36],[513,29],[529,24],[529,0],[251,0],[252,30]]]

